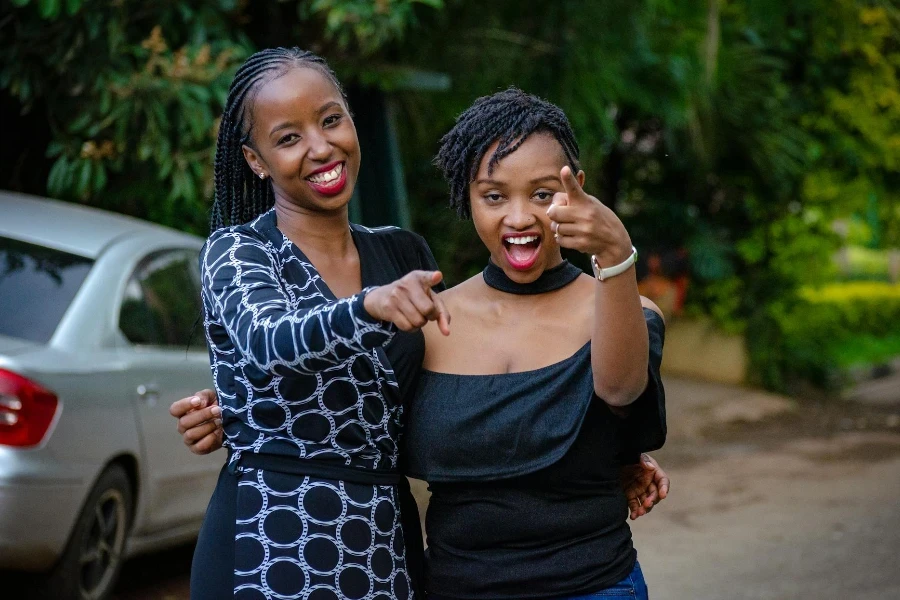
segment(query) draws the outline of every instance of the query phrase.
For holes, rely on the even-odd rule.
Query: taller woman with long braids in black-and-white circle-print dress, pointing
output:
[[[414,595],[422,538],[398,471],[401,399],[421,364],[419,328],[437,320],[447,334],[449,317],[421,237],[349,223],[359,166],[321,58],[276,48],[238,69],[200,255],[229,456],[194,599]]]

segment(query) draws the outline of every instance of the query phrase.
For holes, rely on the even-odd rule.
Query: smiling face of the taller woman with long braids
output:
[[[359,174],[359,140],[340,91],[298,67],[263,84],[251,107],[250,168],[272,179],[276,202],[309,211],[345,209]]]

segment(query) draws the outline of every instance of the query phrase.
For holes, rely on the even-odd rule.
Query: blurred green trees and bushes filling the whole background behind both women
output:
[[[749,381],[834,389],[900,356],[896,0],[7,0],[0,45],[2,187],[205,234],[231,74],[299,45],[388,98],[452,283],[486,256],[431,157],[516,85],[566,110],[644,289],[743,336]]]

